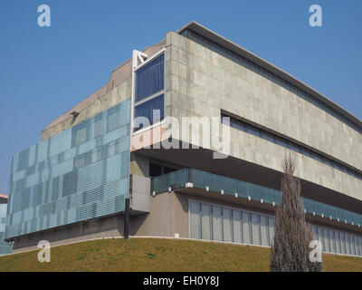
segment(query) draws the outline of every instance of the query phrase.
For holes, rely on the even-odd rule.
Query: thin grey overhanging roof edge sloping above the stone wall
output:
[[[233,43],[232,41],[224,38],[220,34],[214,33],[214,31],[206,28],[202,24],[198,24],[195,21],[191,21],[182,28],[178,29],[176,31],[177,34],[181,34],[186,29],[190,29],[192,31],[195,31],[197,34],[201,34],[205,36],[206,38],[212,40],[214,43],[218,43],[225,48],[233,51],[234,53],[237,53],[239,55],[242,55],[244,58],[248,59],[252,63],[256,63],[260,65],[265,70],[274,73],[281,77],[281,79],[290,82],[291,84],[295,85],[296,87],[300,88],[300,90],[309,93],[311,96],[315,97],[320,102],[326,104],[329,108],[334,109],[335,111],[338,111],[342,116],[348,119],[348,121],[351,121],[355,125],[357,125],[359,128],[362,129],[362,121],[360,121],[356,116],[351,114],[350,112],[346,111],[342,107],[340,107],[336,102],[333,102],[329,100],[326,96],[324,96],[322,93],[314,90],[311,88],[308,84],[305,84],[304,82],[301,82],[297,78],[293,77],[291,74],[284,72],[279,67],[275,66],[272,63],[269,63],[265,60],[263,60],[261,57],[249,52],[242,46]]]

